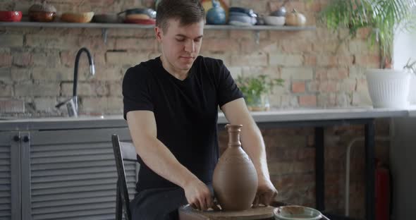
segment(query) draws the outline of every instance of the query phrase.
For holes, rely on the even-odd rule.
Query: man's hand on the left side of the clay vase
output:
[[[188,203],[194,209],[207,210],[214,206],[211,192],[207,185],[202,183],[199,179],[193,179],[183,188],[185,190],[185,197]]]

